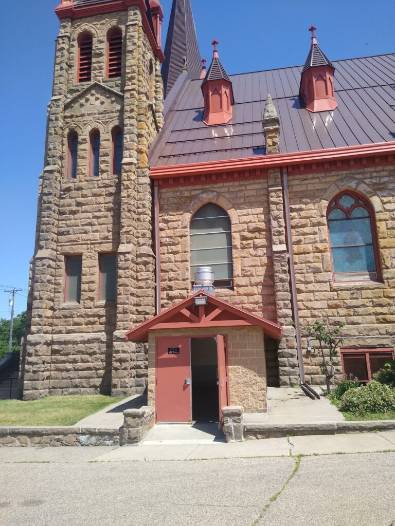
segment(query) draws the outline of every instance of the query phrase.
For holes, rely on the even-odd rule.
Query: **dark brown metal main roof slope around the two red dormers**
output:
[[[310,113],[301,107],[302,66],[231,75],[233,117],[206,126],[201,80],[184,75],[166,106],[165,126],[151,148],[151,165],[167,166],[264,154],[262,115],[268,93],[280,118],[281,153],[395,139],[395,54],[339,60],[334,87],[338,107]]]

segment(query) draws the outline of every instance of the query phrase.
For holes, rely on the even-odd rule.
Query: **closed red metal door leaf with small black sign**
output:
[[[158,338],[156,341],[156,420],[192,422],[191,340]]]

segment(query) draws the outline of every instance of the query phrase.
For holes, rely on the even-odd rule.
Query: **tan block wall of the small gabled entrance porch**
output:
[[[267,409],[264,335],[260,327],[210,327],[150,332],[148,363],[148,404],[155,407],[155,338],[163,336],[228,336],[230,406],[242,406],[246,413]]]

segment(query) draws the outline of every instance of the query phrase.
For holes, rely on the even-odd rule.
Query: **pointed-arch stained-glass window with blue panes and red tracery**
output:
[[[374,215],[367,200],[344,191],[328,207],[335,281],[380,279]]]

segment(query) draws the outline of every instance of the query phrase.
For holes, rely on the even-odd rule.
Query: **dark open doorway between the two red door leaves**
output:
[[[191,338],[192,420],[218,422],[218,355],[215,338]]]

